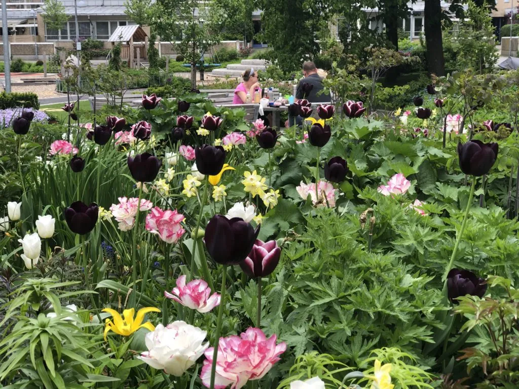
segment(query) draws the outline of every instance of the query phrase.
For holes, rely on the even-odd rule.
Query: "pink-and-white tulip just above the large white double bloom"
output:
[[[176,287],[171,293],[164,292],[164,296],[176,301],[184,307],[196,309],[200,313],[206,313],[220,305],[220,295],[213,293],[207,282],[193,280],[186,284],[186,276],[181,275],[176,280]]]

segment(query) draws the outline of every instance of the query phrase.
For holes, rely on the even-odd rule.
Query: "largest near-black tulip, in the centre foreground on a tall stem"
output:
[[[206,227],[207,251],[217,263],[237,265],[251,252],[258,233],[260,225],[254,230],[250,223],[240,217],[229,220],[225,216],[214,215]]]

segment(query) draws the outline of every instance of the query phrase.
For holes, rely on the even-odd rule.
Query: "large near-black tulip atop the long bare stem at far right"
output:
[[[465,174],[482,176],[487,174],[496,162],[497,153],[497,143],[483,143],[477,140],[465,144],[458,143],[459,167]]]

